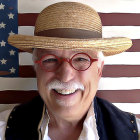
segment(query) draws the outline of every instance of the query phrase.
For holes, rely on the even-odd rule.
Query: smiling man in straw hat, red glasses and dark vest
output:
[[[121,53],[131,40],[102,38],[100,18],[91,7],[53,4],[37,18],[35,36],[13,35],[8,41],[33,53],[41,98],[10,111],[1,125],[3,139],[138,140],[140,121],[95,96],[103,54]]]

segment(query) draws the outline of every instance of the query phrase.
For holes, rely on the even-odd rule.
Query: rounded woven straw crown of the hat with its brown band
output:
[[[85,34],[83,38],[102,37],[102,23],[98,13],[93,8],[77,2],[56,3],[39,14],[35,24],[35,35],[53,36],[54,30],[54,34],[64,34],[66,30],[72,32],[69,33],[72,34],[71,37],[75,36],[73,32],[79,34],[76,36]]]

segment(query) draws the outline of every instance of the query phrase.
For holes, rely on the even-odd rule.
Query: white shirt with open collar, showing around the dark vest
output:
[[[6,110],[0,113],[0,140],[5,140],[5,129],[6,129],[6,123],[8,116],[10,114],[11,110]],[[46,117],[47,112],[45,112],[44,119],[41,124],[41,132],[43,140],[51,140],[48,136],[48,124],[49,124],[49,117]],[[48,116],[48,115],[47,115]],[[140,119],[136,118],[137,127],[138,127],[138,134],[140,140]],[[93,107],[91,106],[87,117],[83,123],[83,130],[78,138],[78,140],[90,140],[91,138],[94,140],[99,140],[97,128],[96,128],[96,119]]]

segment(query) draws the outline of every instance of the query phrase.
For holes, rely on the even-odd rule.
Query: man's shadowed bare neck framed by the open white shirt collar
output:
[[[77,140],[83,129],[85,116],[81,119],[67,119],[50,115],[49,136],[52,140]]]

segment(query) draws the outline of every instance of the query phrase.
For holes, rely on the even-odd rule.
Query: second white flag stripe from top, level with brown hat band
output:
[[[19,26],[18,33],[34,35],[34,26]],[[103,37],[128,37],[140,39],[140,26],[103,26]]]

